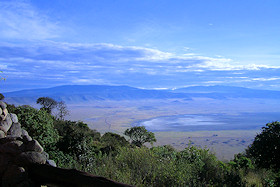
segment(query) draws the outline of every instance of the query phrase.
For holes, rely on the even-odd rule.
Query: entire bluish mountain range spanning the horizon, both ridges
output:
[[[206,97],[227,98],[270,98],[280,99],[280,91],[255,90],[231,86],[195,86],[175,90],[149,90],[129,86],[65,85],[53,88],[21,90],[3,93],[9,103],[34,103],[38,97],[52,97],[68,103],[94,100],[140,100],[140,99],[187,99]]]

